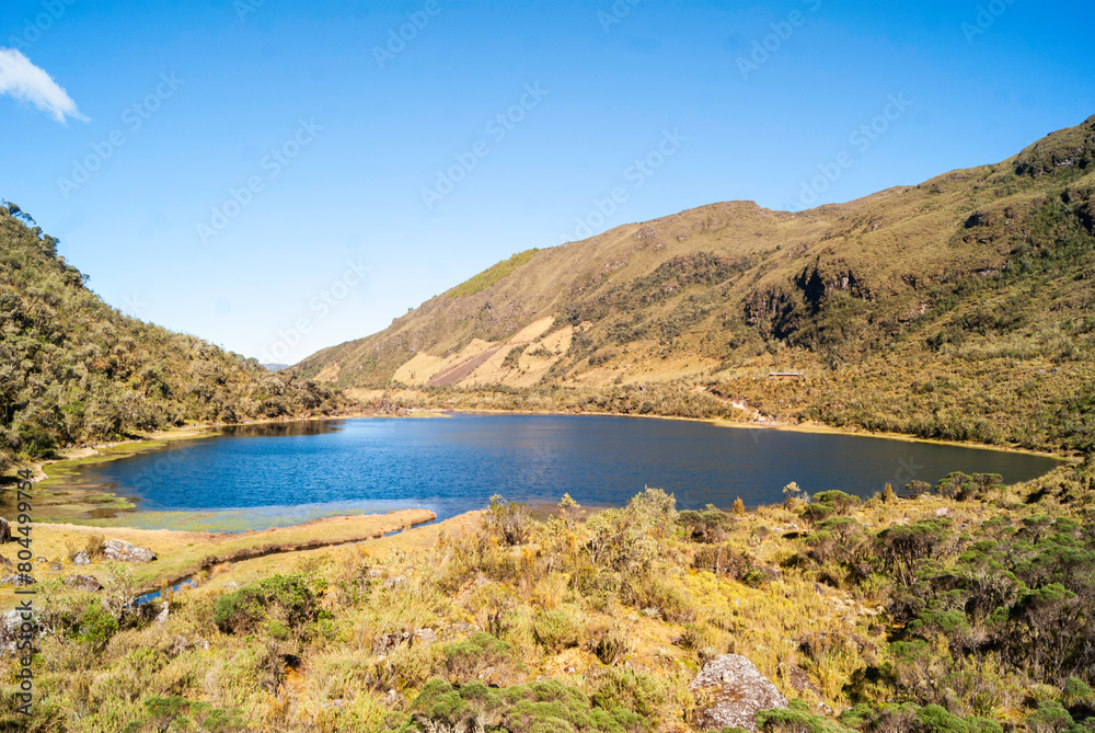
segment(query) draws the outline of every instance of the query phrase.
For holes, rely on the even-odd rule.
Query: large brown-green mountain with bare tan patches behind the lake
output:
[[[1090,446],[1093,159],[1095,117],[846,204],[618,227],[515,255],[295,368],[454,404]],[[805,379],[768,378],[782,370]]]

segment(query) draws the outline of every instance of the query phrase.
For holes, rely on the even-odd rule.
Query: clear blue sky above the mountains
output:
[[[0,197],[112,305],[292,363],[586,227],[1007,158],[1095,114],[1093,22],[1029,0],[9,0]],[[64,92],[11,81],[35,68]]]

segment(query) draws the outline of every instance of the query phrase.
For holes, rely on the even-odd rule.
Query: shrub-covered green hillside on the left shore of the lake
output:
[[[128,318],[57,255],[57,240],[0,207],[0,470],[89,439],[187,420],[330,411],[328,387]]]

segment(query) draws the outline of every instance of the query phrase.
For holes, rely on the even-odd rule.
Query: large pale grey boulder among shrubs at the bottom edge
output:
[[[756,731],[758,712],[787,707],[787,698],[775,685],[738,654],[723,654],[707,662],[689,689],[707,706],[700,712],[700,723],[706,731],[735,726]]]

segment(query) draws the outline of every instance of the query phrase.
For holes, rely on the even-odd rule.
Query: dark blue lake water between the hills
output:
[[[890,482],[936,482],[950,471],[1008,483],[1048,472],[1038,456],[904,440],[746,430],[629,417],[470,415],[247,426],[85,469],[141,512],[201,511],[274,526],[350,511],[426,507],[439,518],[493,494],[530,503],[569,493],[622,505],[644,486],[681,508],[783,501],[795,481],[816,493],[869,496]],[[215,523],[214,523],[215,524]]]

